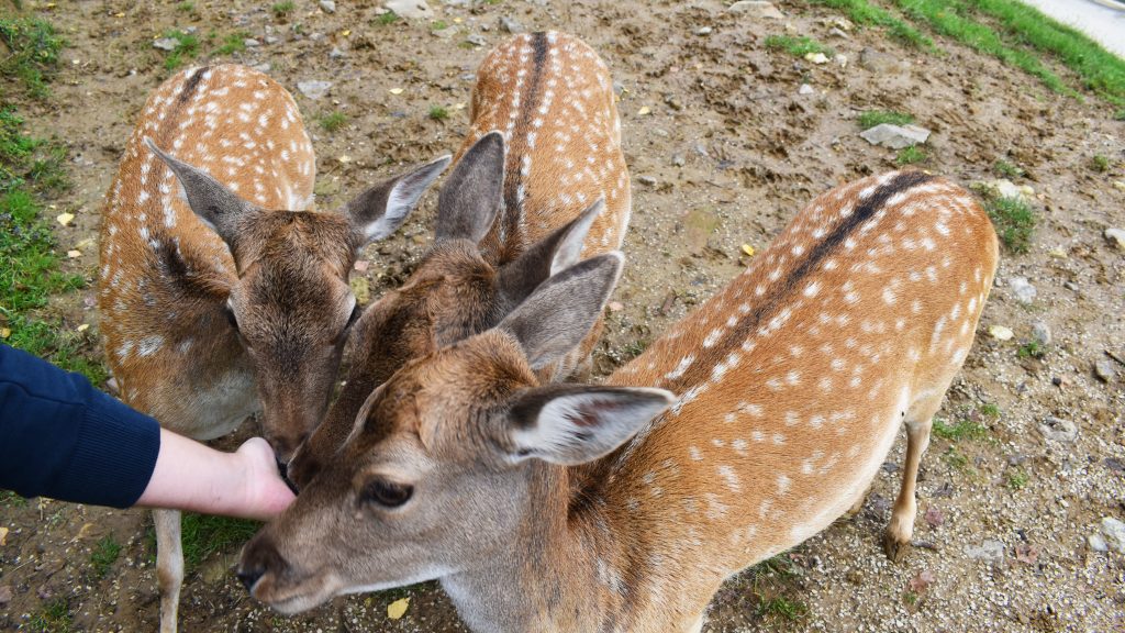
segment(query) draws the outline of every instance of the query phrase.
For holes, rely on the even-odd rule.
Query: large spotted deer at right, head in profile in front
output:
[[[919,171],[838,187],[608,385],[541,385],[531,365],[601,311],[575,292],[612,278],[600,264],[379,386],[244,549],[253,596],[295,613],[440,579],[474,631],[700,631],[723,579],[865,493],[904,424],[900,555],[997,265],[966,191]]]

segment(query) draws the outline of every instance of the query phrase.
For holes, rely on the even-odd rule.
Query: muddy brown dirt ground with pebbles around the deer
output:
[[[425,20],[380,25],[379,2],[340,0],[326,14],[296,0],[285,19],[270,5],[197,1],[184,11],[169,1],[82,0],[45,11],[70,46],[53,98],[19,107],[36,135],[57,137],[73,158],[75,186],[55,200],[76,214],[58,231],[61,247],[97,237],[101,198],[133,122],[168,75],[152,39],[169,28],[216,32],[215,44],[201,44],[201,60],[230,33],[260,43],[228,59],[268,64],[294,92],[317,151],[323,208],[404,163],[456,150],[476,64],[508,36],[501,17],[528,30],[569,30],[602,54],[622,88],[634,184],[624,246],[630,264],[614,295],[621,309],[610,313],[596,357],[604,374],[736,275],[747,260],[741,244],[760,249],[814,195],[893,168],[894,152],[858,137],[861,112],[911,113],[934,131],[925,169],[968,185],[994,178],[992,164],[1005,158],[1026,169],[1018,182],[1035,190],[1041,223],[1032,250],[1002,259],[976,344],[940,413],[950,424],[986,425],[987,437],[935,438],[919,482],[919,546],[904,562],[890,563],[879,541],[898,491],[900,440],[858,515],[777,564],[727,582],[704,631],[1125,630],[1125,556],[1087,544],[1102,517],[1125,518],[1125,367],[1117,364],[1109,382],[1091,371],[1105,350],[1125,357],[1125,251],[1102,238],[1106,228],[1125,228],[1125,185],[1114,184],[1125,181],[1125,123],[1113,121],[1112,108],[1094,97],[1080,102],[1051,93],[947,42],[939,42],[938,56],[878,30],[834,37],[838,14],[799,1],[780,2],[785,18],[778,20],[732,15],[718,1],[433,0],[433,19],[453,28],[438,34]],[[848,63],[817,65],[767,51],[772,34],[814,37]],[[470,35],[486,44],[467,43]],[[858,61],[867,47],[901,63],[864,68]],[[308,80],[333,86],[312,100],[296,88]],[[802,83],[813,92],[799,93]],[[451,116],[432,119],[431,106]],[[335,110],[349,117],[341,130],[314,123]],[[1108,172],[1090,168],[1095,154],[1110,159]],[[429,195],[395,238],[367,252],[372,296],[399,283],[425,249],[434,200]],[[66,266],[94,279],[97,249],[83,252]],[[1012,277],[1037,289],[1029,305],[1016,301]],[[93,296],[91,287],[55,309],[70,327],[96,326],[83,303]],[[1020,358],[1036,322],[1051,328],[1053,341],[1042,358]],[[990,337],[992,326],[1010,328],[1015,338]],[[1000,414],[982,413],[987,403]],[[1046,439],[1038,425],[1048,416],[1073,421],[1077,439]],[[1023,487],[1014,483],[1024,475]],[[0,605],[0,630],[34,630],[58,597],[70,630],[154,630],[148,523],[142,511],[54,501],[0,506],[0,525],[10,529],[0,544],[0,594],[6,586],[12,594]],[[124,547],[99,579],[90,553],[106,535]],[[986,541],[1002,543],[998,559],[970,555]],[[466,630],[432,583],[339,598],[286,618],[246,596],[231,569],[236,556],[232,547],[189,572],[182,630]],[[406,615],[387,619],[386,605],[402,596],[412,598]]]

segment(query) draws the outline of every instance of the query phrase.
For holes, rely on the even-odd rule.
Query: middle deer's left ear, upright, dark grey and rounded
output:
[[[503,187],[504,136],[490,132],[461,155],[442,186],[434,237],[483,240],[500,213]]]

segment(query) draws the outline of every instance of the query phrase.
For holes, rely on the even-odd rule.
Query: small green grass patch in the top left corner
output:
[[[46,98],[47,82],[58,65],[58,52],[65,42],[55,28],[37,18],[0,19],[0,97],[4,84],[15,79],[33,97]]]

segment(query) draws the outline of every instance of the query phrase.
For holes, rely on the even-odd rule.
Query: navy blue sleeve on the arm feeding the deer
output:
[[[156,420],[80,374],[0,345],[0,489],[127,508],[158,453]]]

